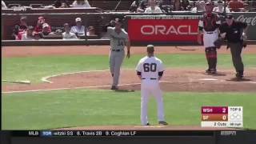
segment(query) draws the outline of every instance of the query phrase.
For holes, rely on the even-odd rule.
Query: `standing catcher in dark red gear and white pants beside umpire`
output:
[[[202,15],[202,18],[198,22],[198,43],[202,44],[202,34],[203,34],[203,45],[206,48],[206,59],[208,62],[207,74],[216,74],[217,69],[217,50],[220,46],[215,46],[214,42],[218,39],[219,26],[221,25],[221,20],[218,15],[213,13],[214,4],[212,2],[207,2],[206,13]]]

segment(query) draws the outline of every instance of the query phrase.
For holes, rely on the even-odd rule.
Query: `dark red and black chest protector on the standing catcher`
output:
[[[218,28],[216,25],[218,16],[217,14],[203,14],[202,22],[203,29],[206,31],[214,31]]]

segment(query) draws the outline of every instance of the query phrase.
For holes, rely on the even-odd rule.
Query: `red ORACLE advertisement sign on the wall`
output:
[[[198,19],[129,19],[131,42],[197,42]]]

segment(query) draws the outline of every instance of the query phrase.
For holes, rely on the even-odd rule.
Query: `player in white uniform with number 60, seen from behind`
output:
[[[141,122],[142,126],[149,126],[148,122],[148,101],[150,94],[154,95],[158,103],[158,123],[160,125],[168,125],[165,122],[164,106],[162,99],[162,90],[159,86],[159,80],[162,78],[164,67],[162,61],[154,57],[154,46],[147,46],[147,56],[138,62],[136,67],[138,78],[141,79]]]

